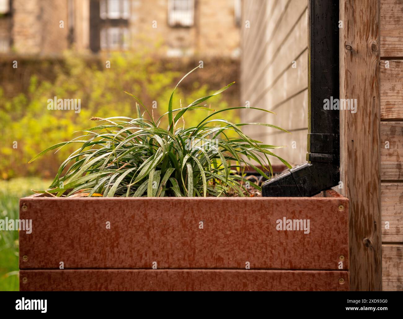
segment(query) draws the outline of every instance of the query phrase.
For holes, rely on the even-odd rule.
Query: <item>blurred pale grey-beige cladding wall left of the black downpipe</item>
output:
[[[307,149],[307,4],[307,0],[249,0],[242,8],[240,105],[277,113],[244,109],[242,121],[274,124],[292,134],[256,125],[244,130],[267,144],[287,145],[276,154],[291,165],[305,162]]]

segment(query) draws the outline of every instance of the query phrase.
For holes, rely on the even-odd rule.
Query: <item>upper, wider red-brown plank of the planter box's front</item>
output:
[[[22,198],[20,268],[348,269],[348,200]],[[345,207],[339,211],[339,205]],[[278,219],[310,219],[310,233]],[[109,221],[111,229],[106,229]],[[199,229],[203,221],[204,229]],[[27,256],[24,259],[24,256]]]

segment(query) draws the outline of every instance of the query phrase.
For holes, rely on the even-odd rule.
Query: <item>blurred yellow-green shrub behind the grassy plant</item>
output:
[[[110,68],[106,67],[106,60],[110,61]],[[94,123],[89,121],[91,117],[133,117],[135,99],[125,94],[124,90],[139,97],[153,110],[154,118],[158,118],[168,109],[170,93],[178,79],[197,65],[197,62],[191,65],[187,63],[187,70],[179,70],[186,63],[178,67],[177,62],[153,58],[151,52],[125,55],[116,53],[105,59],[92,60],[66,53],[63,63],[54,64],[54,74],[48,76],[50,80],[44,80],[44,75],[39,71],[39,74],[30,76],[26,92],[12,92],[10,96],[0,86],[0,178],[29,175],[52,177],[61,162],[74,150],[74,145],[63,147],[56,154],[50,152],[31,164],[27,164],[28,161],[53,144],[80,136],[79,133],[73,135],[73,131],[92,127]],[[180,98],[182,105],[186,106],[196,98],[237,80],[235,72],[233,76],[228,74],[225,63],[208,64],[209,67],[204,63],[204,69],[197,70],[181,84],[175,93],[174,108],[179,107]],[[19,69],[23,65],[24,63],[22,66],[20,63]],[[48,65],[45,69],[49,70]],[[222,73],[228,75],[228,81],[214,83],[216,85],[212,87],[210,84],[217,82],[216,75]],[[200,78],[208,83],[202,84]],[[0,81],[4,88],[10,87],[8,82],[5,79]],[[216,110],[229,107],[224,99],[236,102],[236,91],[237,88],[233,88],[223,96],[212,98],[209,104]],[[81,99],[81,112],[48,110],[47,100],[54,96]],[[156,101],[157,108],[152,108],[153,101]],[[205,111],[189,112],[185,118],[186,126],[198,123],[206,115]],[[230,121],[237,121],[236,115],[235,112],[228,112],[222,116]],[[166,123],[162,125],[166,126]]]

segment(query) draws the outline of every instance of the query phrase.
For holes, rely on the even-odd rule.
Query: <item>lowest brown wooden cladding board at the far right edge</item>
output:
[[[403,245],[382,245],[383,290],[403,290]]]

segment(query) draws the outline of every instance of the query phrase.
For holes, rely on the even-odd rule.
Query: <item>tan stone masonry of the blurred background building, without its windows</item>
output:
[[[130,4],[131,49],[158,43],[161,54],[168,57],[236,58],[239,54],[235,0],[195,0],[191,27],[168,25],[168,0],[131,0]],[[90,0],[13,0],[8,20],[6,24],[6,18],[0,17],[1,32],[8,33],[12,43],[10,52],[55,55],[68,48],[89,51]],[[64,28],[60,28],[60,20]]]

